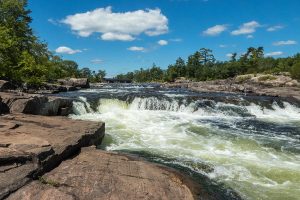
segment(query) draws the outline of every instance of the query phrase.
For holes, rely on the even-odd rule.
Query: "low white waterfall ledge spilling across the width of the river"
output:
[[[185,99],[157,97],[135,97],[132,102],[118,99],[99,99],[96,112],[103,113],[113,110],[149,110],[194,113],[202,116],[219,117],[256,117],[272,120],[299,120],[300,108],[290,103],[283,102],[283,106],[273,103],[270,108],[250,103],[249,105],[235,105],[208,100],[195,100],[187,103]],[[84,115],[92,113],[90,103],[85,97],[79,97],[73,102],[73,113]]]

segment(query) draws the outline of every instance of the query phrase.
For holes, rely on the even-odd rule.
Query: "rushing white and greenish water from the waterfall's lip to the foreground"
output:
[[[81,98],[74,102],[70,117],[105,121],[107,150],[168,157],[224,183],[245,199],[299,199],[298,107],[289,103],[284,107],[273,104],[272,109],[254,103],[199,104],[201,100],[188,103],[158,97],[135,97],[131,103],[99,99],[97,110],[92,111]],[[296,136],[290,136],[288,130],[287,134],[281,134],[279,128],[272,130],[273,123],[281,124],[279,128],[291,126]],[[286,150],[289,147],[293,151]],[[201,167],[203,164],[209,167]]]

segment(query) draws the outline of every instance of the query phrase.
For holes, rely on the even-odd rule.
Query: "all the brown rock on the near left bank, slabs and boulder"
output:
[[[104,123],[42,116],[71,104],[0,93],[0,199],[216,199],[173,169],[97,150]]]

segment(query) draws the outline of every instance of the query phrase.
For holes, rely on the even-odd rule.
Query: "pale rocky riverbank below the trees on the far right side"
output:
[[[164,88],[186,88],[196,92],[227,92],[245,95],[291,97],[300,101],[300,83],[288,76],[242,75],[233,79],[192,82],[178,80],[162,84]]]

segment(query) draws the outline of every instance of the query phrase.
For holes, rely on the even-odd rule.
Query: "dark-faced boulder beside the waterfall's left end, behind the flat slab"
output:
[[[55,116],[62,113],[68,115],[72,109],[72,100],[68,98],[3,92],[0,92],[0,96],[4,105],[2,107],[8,107],[10,113]],[[62,109],[64,112],[61,112]]]

